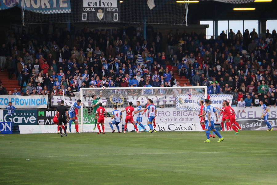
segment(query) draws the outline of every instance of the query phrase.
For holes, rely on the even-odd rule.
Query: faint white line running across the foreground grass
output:
[[[226,151],[226,152],[180,152],[180,153],[143,153],[143,154],[92,154],[92,155],[58,155],[8,158],[51,158],[51,157],[86,157],[86,156],[118,156],[118,155],[166,155],[166,154],[222,154],[222,153],[267,153],[270,151]],[[6,158],[0,158],[6,159]]]

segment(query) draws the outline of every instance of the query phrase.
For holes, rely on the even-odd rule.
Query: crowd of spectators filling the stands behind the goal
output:
[[[209,94],[234,94],[233,104],[243,98],[246,106],[255,106],[257,97],[276,105],[275,30],[258,35],[255,29],[243,34],[231,29],[216,39],[206,39],[204,32],[176,30],[163,36],[157,30],[149,41],[141,26],[112,32],[55,26],[11,32],[0,48],[0,68],[7,68],[10,79],[16,74],[23,95],[74,95],[80,87],[176,86],[179,75],[193,86],[208,86]],[[142,62],[137,62],[138,53]]]

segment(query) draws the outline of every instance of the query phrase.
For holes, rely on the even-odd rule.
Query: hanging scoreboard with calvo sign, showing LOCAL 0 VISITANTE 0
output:
[[[118,22],[119,0],[82,0],[82,22]]]

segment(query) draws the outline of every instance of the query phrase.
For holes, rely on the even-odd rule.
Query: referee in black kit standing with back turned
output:
[[[66,123],[68,122],[68,117],[69,117],[67,108],[63,104],[64,104],[64,101],[62,100],[61,105],[59,105],[57,107],[57,111],[56,111],[56,115],[58,115],[58,113],[59,113],[59,116],[58,116],[59,123],[58,124],[60,126],[59,129],[60,129],[61,137],[62,137],[62,124],[64,124],[64,136],[67,136],[66,135],[66,129],[67,129]]]

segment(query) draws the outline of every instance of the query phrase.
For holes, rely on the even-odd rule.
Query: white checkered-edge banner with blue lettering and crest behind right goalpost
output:
[[[210,94],[210,100],[212,106],[222,108],[222,103],[224,100],[232,103],[233,95],[232,94]],[[200,105],[199,101],[205,101],[203,94],[178,94],[176,96],[176,108],[179,110],[199,110]]]

